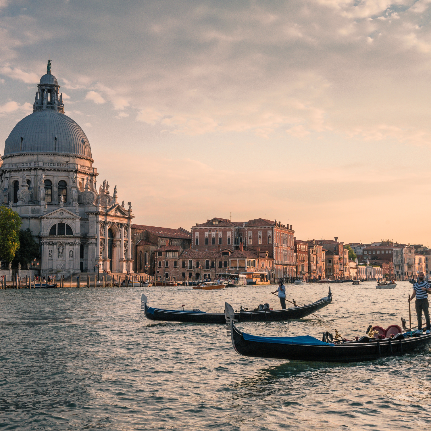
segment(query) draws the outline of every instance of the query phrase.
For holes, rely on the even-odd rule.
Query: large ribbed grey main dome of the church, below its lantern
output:
[[[21,153],[72,154],[91,159],[91,147],[84,131],[55,109],[33,112],[12,129],[4,155]]]

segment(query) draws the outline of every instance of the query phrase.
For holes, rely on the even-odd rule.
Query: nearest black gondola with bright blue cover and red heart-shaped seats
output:
[[[431,334],[397,334],[378,340],[367,336],[344,343],[329,343],[303,335],[299,337],[259,337],[241,332],[234,324],[234,311],[226,303],[234,349],[243,356],[319,362],[362,362],[385,356],[400,356],[431,343]],[[235,314],[236,315],[236,314]]]

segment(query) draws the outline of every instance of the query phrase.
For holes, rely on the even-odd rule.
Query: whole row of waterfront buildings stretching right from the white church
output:
[[[382,240],[369,244],[334,239],[300,240],[292,225],[262,218],[233,222],[215,217],[188,231],[131,225],[133,270],[156,279],[215,279],[244,273],[247,282],[344,281],[428,275],[431,249]],[[133,247],[134,246],[134,247]]]

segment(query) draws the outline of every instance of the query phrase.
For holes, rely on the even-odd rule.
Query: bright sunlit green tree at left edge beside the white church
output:
[[[15,211],[0,206],[0,261],[12,262],[19,248],[21,219]]]

